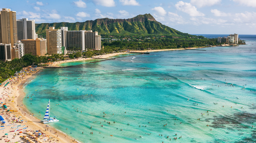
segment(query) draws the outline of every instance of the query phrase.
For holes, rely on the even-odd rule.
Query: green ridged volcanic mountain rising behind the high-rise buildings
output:
[[[157,22],[151,14],[138,15],[129,19],[101,18],[76,23],[41,23],[35,24],[35,31],[38,35],[46,37],[45,29],[48,29],[49,26],[55,27],[55,29],[68,27],[68,30],[92,30],[99,32],[101,36],[142,34],[175,37],[191,36]]]

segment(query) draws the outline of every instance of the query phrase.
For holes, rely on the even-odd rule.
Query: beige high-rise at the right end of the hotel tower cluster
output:
[[[85,31],[85,47],[94,50],[101,49],[101,36],[92,30]]]

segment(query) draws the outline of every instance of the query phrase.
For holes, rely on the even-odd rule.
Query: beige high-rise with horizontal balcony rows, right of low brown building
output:
[[[46,29],[47,53],[61,54],[61,30],[49,27]]]

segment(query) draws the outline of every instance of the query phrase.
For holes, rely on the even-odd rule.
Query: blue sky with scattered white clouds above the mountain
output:
[[[1,0],[0,5],[37,24],[150,13],[184,33],[256,35],[256,0]]]

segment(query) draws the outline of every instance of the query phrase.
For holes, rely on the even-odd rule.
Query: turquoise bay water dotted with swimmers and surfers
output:
[[[80,142],[256,142],[256,39],[246,42],[44,69],[23,102],[42,119],[51,99],[60,121],[49,125]]]

